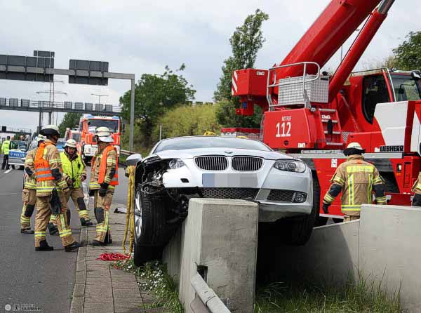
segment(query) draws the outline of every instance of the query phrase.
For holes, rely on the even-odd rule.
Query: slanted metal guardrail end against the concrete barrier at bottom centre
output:
[[[192,277],[190,283],[196,292],[196,298],[190,304],[194,313],[231,313],[199,273]]]

